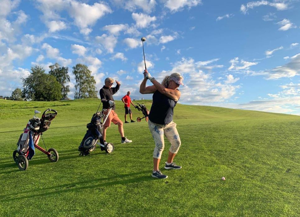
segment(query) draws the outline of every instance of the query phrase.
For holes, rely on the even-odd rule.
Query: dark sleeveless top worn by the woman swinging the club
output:
[[[149,120],[155,124],[169,124],[173,120],[174,107],[177,101],[156,90],[149,113]]]

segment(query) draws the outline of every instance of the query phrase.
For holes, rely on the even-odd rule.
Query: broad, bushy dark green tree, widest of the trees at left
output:
[[[22,78],[22,97],[33,101],[56,101],[62,98],[61,84],[53,75],[45,73],[42,66],[31,67],[27,78]]]

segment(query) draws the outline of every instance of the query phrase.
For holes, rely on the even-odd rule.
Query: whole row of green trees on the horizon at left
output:
[[[67,97],[70,92],[69,68],[58,63],[49,68],[47,74],[42,66],[31,67],[30,75],[21,78],[23,90],[16,88],[10,98],[27,101],[57,101]],[[72,69],[76,81],[74,99],[97,98],[96,81],[88,67],[76,64]]]

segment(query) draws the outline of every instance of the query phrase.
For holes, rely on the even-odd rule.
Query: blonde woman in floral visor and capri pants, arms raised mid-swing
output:
[[[153,83],[152,86],[146,87],[147,79]],[[180,74],[173,73],[170,76],[166,76],[162,84],[159,84],[159,82],[145,70],[144,80],[140,86],[140,93],[153,93],[153,102],[150,109],[148,125],[155,142],[152,177],[158,179],[168,178],[167,175],[162,174],[159,170],[159,161],[164,150],[164,135],[166,135],[171,143],[168,160],[164,168],[167,170],[181,169],[181,166],[178,166],[173,162],[181,145],[176,124],[173,122],[173,109],[181,95],[177,88],[180,84],[183,85],[182,79]]]

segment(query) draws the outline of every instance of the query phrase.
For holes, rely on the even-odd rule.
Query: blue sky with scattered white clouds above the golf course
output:
[[[179,103],[300,115],[300,1],[1,0],[0,95],[22,88],[30,67],[85,64],[97,90],[141,95],[146,64],[161,81],[179,72]],[[149,83],[150,84],[150,83]]]

